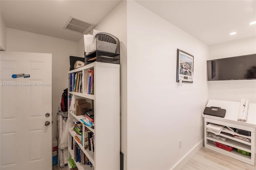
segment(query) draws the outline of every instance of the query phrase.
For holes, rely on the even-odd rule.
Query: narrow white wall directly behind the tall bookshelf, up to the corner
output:
[[[126,1],[121,2],[96,27],[110,33],[120,41],[120,150],[124,154],[124,170],[127,169],[127,16]],[[78,42],[79,56],[84,55],[83,38]]]

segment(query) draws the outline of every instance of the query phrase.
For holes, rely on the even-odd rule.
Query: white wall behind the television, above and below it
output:
[[[210,59],[256,53],[256,37],[210,46]],[[208,81],[209,99],[256,103],[256,80]]]

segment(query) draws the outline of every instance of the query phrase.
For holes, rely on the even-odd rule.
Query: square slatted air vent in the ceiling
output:
[[[66,26],[66,29],[86,34],[92,29],[93,26],[94,24],[90,24],[75,18],[71,18],[70,22]]]

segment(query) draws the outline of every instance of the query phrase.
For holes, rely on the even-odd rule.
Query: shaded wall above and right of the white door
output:
[[[52,136],[55,137],[58,105],[63,90],[68,87],[69,56],[78,55],[78,43],[7,28],[6,49],[6,51],[52,53]]]

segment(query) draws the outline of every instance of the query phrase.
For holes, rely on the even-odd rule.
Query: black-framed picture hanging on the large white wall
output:
[[[176,82],[193,83],[194,56],[177,49]]]

